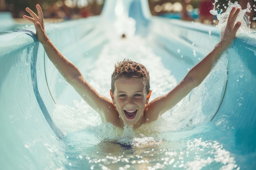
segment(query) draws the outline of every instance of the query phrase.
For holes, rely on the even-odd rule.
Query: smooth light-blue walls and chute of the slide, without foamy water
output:
[[[123,5],[120,5],[123,4]],[[97,55],[112,38],[126,29],[112,26],[120,17],[133,18],[135,35],[153,40],[158,49],[173,56],[162,57],[177,81],[209,53],[219,40],[219,30],[200,23],[150,15],[147,0],[106,0],[99,16],[45,24],[56,47],[75,64],[82,60],[94,67]],[[209,33],[210,31],[210,33]],[[228,51],[228,79],[220,103],[209,123],[225,133],[234,132],[234,147],[246,158],[256,157],[256,32],[238,35]],[[210,38],[209,38],[210,37]],[[195,42],[195,43],[194,43]],[[180,57],[177,51],[197,51],[197,57]],[[159,55],[161,51],[156,51]],[[193,55],[193,53],[191,53]],[[69,92],[70,97],[63,99]],[[58,169],[65,155],[65,131],[53,120],[56,104],[69,105],[79,95],[67,85],[36,40],[34,26],[0,32],[0,165],[5,170]],[[49,153],[54,153],[49,158]],[[61,155],[61,156],[60,156]],[[243,162],[243,161],[242,161]],[[246,161],[245,161],[246,162]],[[251,166],[255,167],[255,162]]]

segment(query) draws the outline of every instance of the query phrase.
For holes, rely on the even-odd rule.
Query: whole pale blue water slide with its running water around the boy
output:
[[[214,26],[151,16],[146,0],[106,1],[100,16],[45,24],[45,26],[47,34],[56,47],[83,73],[86,74],[87,71],[90,71],[86,78],[103,95],[108,95],[106,89],[110,88],[110,76],[105,76],[106,74],[103,72],[110,75],[112,69],[108,71],[108,67],[113,68],[112,63],[115,63],[116,59],[122,60],[129,55],[135,56],[134,60],[141,60],[144,62],[143,64],[150,65],[150,69],[151,67],[152,70],[155,69],[150,71],[150,73],[156,72],[153,73],[153,76],[150,75],[152,77],[150,79],[152,87],[156,86],[155,89],[158,89],[156,91],[161,94],[161,86],[166,85],[166,82],[177,84],[186,75],[189,68],[213,49],[220,34],[218,28]],[[150,143],[150,146],[140,147],[144,154],[165,156],[161,159],[158,157],[146,159],[147,156],[143,153],[141,156],[137,156],[140,150],[136,150],[136,148],[121,146],[120,149],[117,144],[97,141],[91,132],[93,128],[88,130],[88,126],[102,126],[102,128],[106,128],[106,126],[101,125],[99,117],[86,104],[81,104],[79,95],[65,82],[65,79],[48,60],[43,46],[36,40],[34,32],[33,26],[0,32],[1,169],[90,168],[104,170],[120,169],[120,167],[123,169],[135,169],[136,167],[139,167],[137,169],[150,169],[150,167],[151,169],[170,169],[171,167],[173,169],[238,170],[241,168],[249,170],[255,168],[255,31],[241,31],[233,46],[222,57],[224,66],[220,66],[219,70],[223,70],[227,78],[220,83],[218,80],[221,77],[211,73],[212,76],[205,82],[208,84],[206,88],[215,89],[214,93],[208,95],[200,105],[199,110],[207,120],[203,120],[202,124],[196,124],[192,130],[182,131],[180,128],[177,132],[173,129],[167,130],[168,132],[164,131],[162,134],[166,136],[163,135],[164,137],[159,138],[166,139],[167,144],[159,144],[158,141],[155,145]],[[126,35],[125,40],[121,38],[122,34]],[[134,37],[136,38],[134,39]],[[146,55],[143,56],[145,58],[136,58],[136,53],[134,53],[134,51],[136,52],[135,46],[138,46],[139,42],[146,44],[144,44],[145,47],[137,50],[145,53]],[[127,50],[129,54],[121,51],[115,52],[119,45],[123,48],[122,51]],[[124,46],[128,46],[129,49],[125,49]],[[151,52],[154,53],[152,58],[147,56],[147,54],[153,55]],[[118,58],[116,53],[121,57]],[[226,59],[227,61],[225,61]],[[157,67],[159,62],[161,68]],[[165,70],[162,71],[162,68]],[[218,72],[218,68],[216,70]],[[171,73],[171,80],[161,82],[161,76],[170,77],[166,73]],[[99,77],[97,77],[98,75]],[[175,77],[175,81],[172,76]],[[162,84],[155,85],[153,83],[157,81]],[[196,94],[190,94],[186,98],[187,101],[200,98],[197,95],[198,91],[191,93]],[[74,104],[78,105],[76,109],[70,107]],[[192,115],[193,109],[198,110],[198,108],[191,108],[191,105],[189,107],[189,110],[186,111],[191,113],[190,115]],[[84,112],[81,110],[86,111],[87,117],[82,115]],[[69,117],[67,112],[72,112],[73,115],[76,115],[75,118]],[[183,118],[185,119],[185,117]],[[63,119],[66,121],[61,124]],[[192,118],[189,118],[186,126],[191,123],[191,120]],[[81,124],[86,124],[86,126],[83,127]],[[82,134],[68,135],[79,129],[77,126],[81,126],[80,129],[85,128],[87,131]],[[188,135],[191,133],[193,135]],[[169,135],[173,135],[173,139],[168,137]],[[179,135],[183,135],[183,137]],[[76,140],[83,146],[76,146]],[[194,148],[191,149],[193,144],[194,146],[199,144],[195,153],[192,153]],[[210,146],[211,150],[207,150],[207,147]],[[113,152],[114,147],[121,153],[133,150],[132,154],[137,158],[129,155],[130,151],[126,153],[127,157],[125,155],[111,157],[109,153]],[[148,151],[149,147],[151,148]],[[163,149],[164,147],[166,150]],[[186,149],[180,150],[183,147]],[[173,151],[172,148],[176,148],[176,150]],[[216,149],[214,150],[215,155],[213,154],[211,157],[210,152],[213,148]],[[94,156],[96,152],[96,155],[99,155],[101,149],[102,153],[107,152],[109,155],[104,159],[92,159],[92,153]],[[198,155],[202,150],[207,151]],[[86,153],[79,155],[78,152],[82,151]],[[187,158],[184,156],[184,151],[189,152]],[[76,155],[74,159],[71,159],[72,154]],[[205,159],[204,154],[207,155]],[[185,159],[180,159],[183,156]],[[126,159],[124,159],[125,157]],[[200,159],[196,159],[198,157]],[[146,163],[152,165],[148,166]]]

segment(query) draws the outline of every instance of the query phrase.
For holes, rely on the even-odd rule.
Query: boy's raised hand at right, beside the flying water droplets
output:
[[[227,26],[225,28],[225,31],[221,37],[220,44],[223,48],[228,48],[233,40],[236,38],[236,32],[238,31],[239,27],[241,26],[241,22],[238,21],[236,24],[236,18],[238,16],[238,13],[240,12],[240,9],[236,9],[236,7],[233,7],[229,13],[229,18],[227,20]]]

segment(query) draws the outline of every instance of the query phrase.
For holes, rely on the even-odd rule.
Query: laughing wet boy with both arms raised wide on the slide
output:
[[[209,74],[220,55],[233,42],[241,25],[241,22],[235,24],[240,9],[233,7],[229,14],[224,34],[213,51],[191,68],[189,73],[173,90],[151,102],[149,102],[151,95],[149,75],[145,66],[130,60],[118,63],[115,65],[115,71],[112,74],[110,90],[112,100],[110,100],[95,91],[78,68],[56,49],[46,35],[43,12],[38,4],[36,9],[38,15],[31,9],[26,8],[26,11],[32,17],[24,15],[23,18],[34,23],[36,38],[43,44],[49,59],[85,102],[99,113],[103,122],[109,122],[121,128],[127,124],[132,125],[135,129],[142,124],[155,121],[159,115],[180,102]]]

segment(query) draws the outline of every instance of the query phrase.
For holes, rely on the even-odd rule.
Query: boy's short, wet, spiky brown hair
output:
[[[121,62],[117,62],[115,64],[115,71],[111,76],[111,91],[114,93],[115,91],[115,80],[118,77],[136,77],[143,78],[146,82],[146,93],[149,93],[150,84],[149,84],[149,72],[146,67],[137,62],[133,62],[132,60],[124,60]]]

